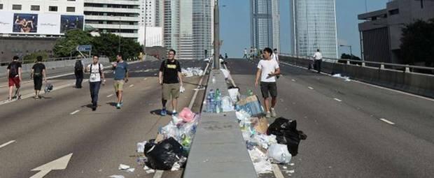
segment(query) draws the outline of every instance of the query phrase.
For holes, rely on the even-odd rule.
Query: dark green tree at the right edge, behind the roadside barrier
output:
[[[434,64],[434,19],[417,20],[402,29],[401,55],[405,64],[424,62],[426,66]]]

